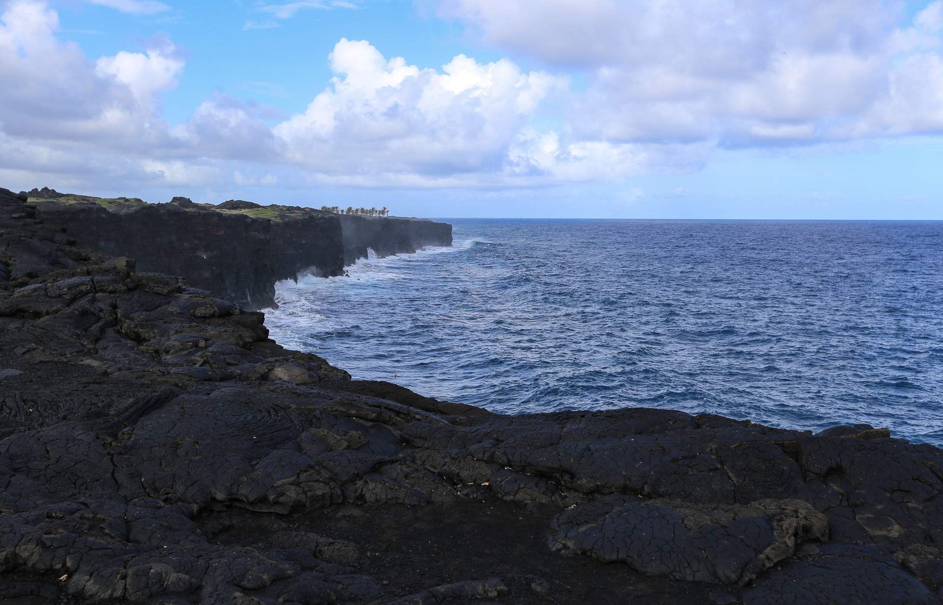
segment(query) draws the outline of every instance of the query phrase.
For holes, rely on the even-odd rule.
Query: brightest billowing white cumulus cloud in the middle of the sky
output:
[[[367,41],[338,42],[333,88],[274,127],[286,160],[325,177],[431,180],[514,172],[509,149],[540,101],[565,82],[506,59],[459,55],[443,73],[387,60]]]

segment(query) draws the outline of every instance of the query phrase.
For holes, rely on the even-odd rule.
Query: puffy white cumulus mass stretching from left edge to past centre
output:
[[[185,66],[173,42],[155,38],[145,52],[91,61],[58,41],[57,13],[41,2],[13,0],[0,22],[0,84],[9,91],[0,124],[7,155],[18,150],[9,170],[100,174],[111,154],[109,178],[119,170],[167,182],[215,174],[261,186],[477,187],[611,170],[601,158],[639,161],[635,150],[530,128],[567,80],[507,59],[459,55],[437,71],[341,40],[329,57],[337,76],[304,113],[272,127],[277,112],[219,95],[171,127],[160,97]]]

